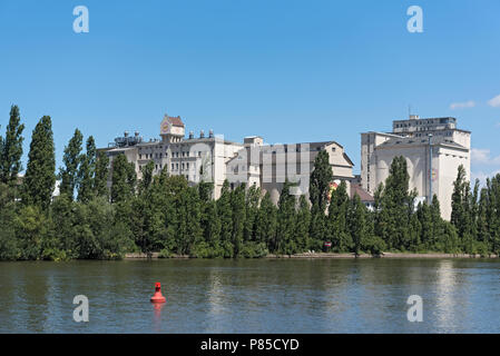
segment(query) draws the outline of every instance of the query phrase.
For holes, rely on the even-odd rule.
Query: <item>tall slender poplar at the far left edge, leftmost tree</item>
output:
[[[20,123],[19,108],[10,108],[9,125],[6,130],[6,138],[0,136],[0,182],[9,186],[17,184],[18,174],[22,169],[22,131],[24,125]]]

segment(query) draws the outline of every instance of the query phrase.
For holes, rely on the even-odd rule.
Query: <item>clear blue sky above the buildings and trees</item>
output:
[[[423,32],[410,33],[410,6]],[[72,28],[76,6],[89,32]],[[58,167],[75,128],[107,146],[186,131],[269,144],[336,140],[360,170],[360,132],[452,116],[472,131],[473,177],[500,171],[498,0],[1,0],[0,125],[53,122]]]

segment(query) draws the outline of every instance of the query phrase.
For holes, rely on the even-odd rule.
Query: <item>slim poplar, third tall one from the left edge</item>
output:
[[[73,198],[75,188],[78,185],[78,167],[81,160],[81,144],[84,136],[80,130],[76,129],[73,136],[65,147],[65,155],[62,161],[65,167],[59,168],[59,178],[61,184],[59,186],[60,194],[66,194],[70,199]]]

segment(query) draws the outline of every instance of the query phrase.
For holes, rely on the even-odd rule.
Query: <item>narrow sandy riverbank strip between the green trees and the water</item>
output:
[[[157,259],[159,253],[150,254],[126,254],[125,259]],[[190,258],[188,255],[173,255],[169,258]],[[330,253],[304,253],[296,255],[273,255],[269,254],[264,258],[498,258],[497,255],[490,255],[488,257],[481,257],[481,255],[470,255],[470,254],[440,254],[440,253],[429,253],[429,254],[413,254],[413,253],[383,253],[380,256],[373,256],[370,254],[362,254],[355,256],[354,254],[330,254]]]

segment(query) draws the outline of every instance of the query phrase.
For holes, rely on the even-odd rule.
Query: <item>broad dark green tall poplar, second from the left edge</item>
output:
[[[38,205],[45,210],[50,205],[56,184],[53,150],[52,122],[49,116],[45,116],[37,123],[31,137],[22,186],[23,201]]]

